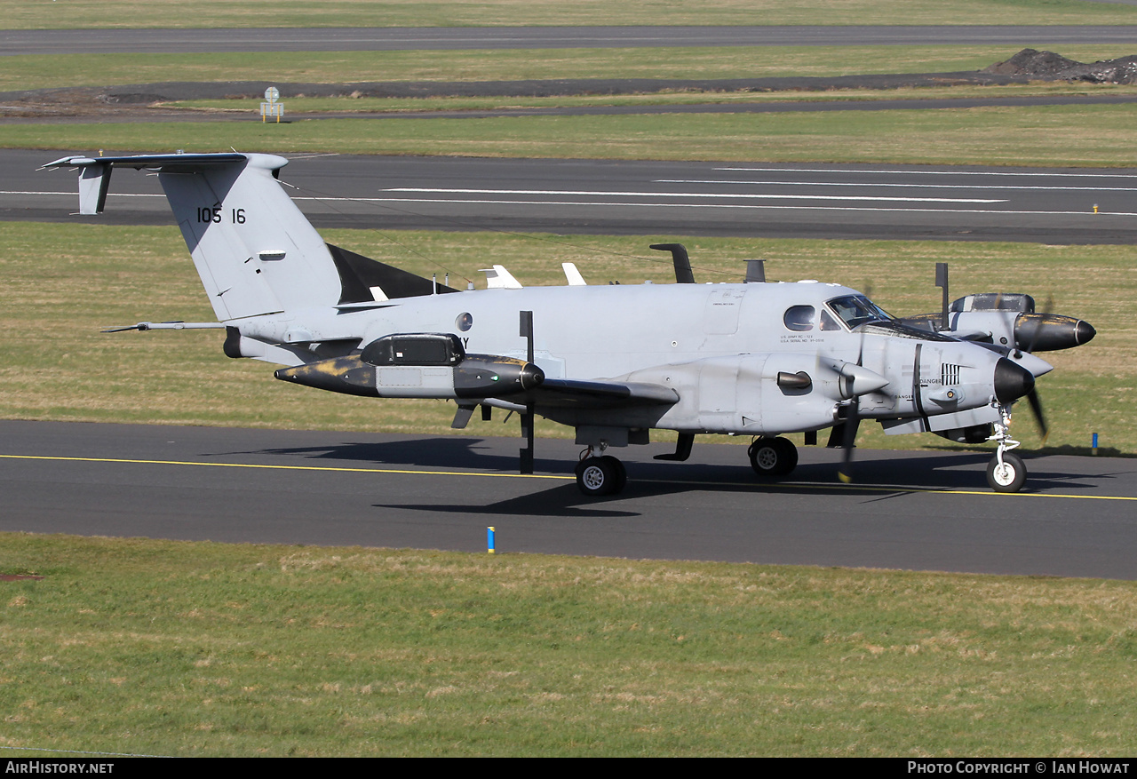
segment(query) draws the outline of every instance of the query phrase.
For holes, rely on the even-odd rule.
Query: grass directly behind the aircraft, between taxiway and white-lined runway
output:
[[[592,283],[673,280],[653,240],[687,243],[700,281],[737,280],[744,257],[769,259],[772,279],[822,279],[871,288],[897,315],[936,310],[936,262],[952,263],[955,296],[1024,291],[1056,313],[1098,330],[1093,343],[1048,353],[1056,370],[1039,382],[1049,446],[1086,451],[1101,433],[1110,454],[1137,454],[1131,424],[1137,367],[1137,265],[1127,246],[920,241],[811,241],[661,237],[549,237],[492,232],[324,231],[360,254],[430,276],[446,272],[484,284],[476,272],[492,255],[525,284],[561,284],[562,262]],[[654,255],[654,256],[650,256]],[[424,259],[428,258],[428,259]],[[432,262],[429,262],[432,260]],[[375,400],[319,392],[272,378],[272,366],[222,355],[219,331],[103,334],[139,321],[213,321],[200,282],[174,227],[8,223],[0,233],[6,305],[0,328],[0,417],[91,422],[450,432],[443,401]],[[459,282],[460,283],[460,282]],[[1040,445],[1026,412],[1015,433]],[[513,434],[500,422],[473,422],[475,434]],[[541,421],[540,436],[571,436]],[[727,440],[727,439],[721,439]],[[864,425],[862,446],[948,446],[933,436],[885,437]]]

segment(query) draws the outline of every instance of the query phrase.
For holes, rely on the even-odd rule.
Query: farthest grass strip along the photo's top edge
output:
[[[416,27],[482,25],[1132,24],[1126,6],[1079,0],[9,0],[5,26]]]

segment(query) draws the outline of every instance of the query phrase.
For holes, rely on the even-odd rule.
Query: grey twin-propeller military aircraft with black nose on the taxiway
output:
[[[1031,351],[1085,343],[1080,320],[1034,313],[1022,295],[969,296],[939,314],[898,320],[856,290],[803,281],[695,284],[680,245],[675,284],[588,285],[566,265],[566,287],[522,289],[507,270],[488,289],[437,280],[325,243],[275,181],[288,164],[262,154],[65,157],[80,171],[80,213],[101,213],[111,171],[156,172],[217,322],[128,330],[225,328],[224,351],[283,365],[277,379],[381,398],[457,404],[455,428],[479,407],[517,412],[532,472],[532,417],[575,429],[586,495],[619,492],[624,466],[611,447],[679,432],[687,459],[698,433],[753,436],[754,470],[785,476],[797,449],[783,433],[833,428],[847,475],[861,420],[889,433],[930,431],[993,440],[988,482],[1016,491],[1011,406],[1052,370]]]

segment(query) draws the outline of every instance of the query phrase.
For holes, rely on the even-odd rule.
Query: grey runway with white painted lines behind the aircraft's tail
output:
[[[75,151],[0,150],[0,219],[174,225],[133,171],[73,216],[75,175],[35,168]],[[317,155],[281,177],[317,227],[1137,242],[1126,169]]]

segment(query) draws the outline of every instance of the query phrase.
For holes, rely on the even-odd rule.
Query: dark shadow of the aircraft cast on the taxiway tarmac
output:
[[[520,441],[498,438],[470,438],[457,436],[439,436],[433,438],[414,438],[393,441],[367,441],[330,444],[326,446],[284,447],[262,449],[258,454],[271,456],[297,456],[340,463],[367,463],[375,467],[438,467],[441,470],[471,470],[482,472],[516,473],[517,449]],[[557,442],[564,448],[564,442]],[[538,450],[540,450],[538,445]],[[824,462],[803,462],[794,471],[791,478],[781,482],[764,481],[757,478],[746,461],[742,447],[729,447],[733,454],[737,448],[737,462],[723,463],[722,454],[728,447],[719,446],[713,450],[717,463],[699,461],[696,447],[690,461],[683,463],[658,462],[654,459],[626,459],[630,483],[628,490],[611,498],[584,498],[575,486],[558,486],[542,490],[531,498],[515,498],[495,504],[496,509],[489,513],[525,513],[525,514],[563,514],[578,506],[598,506],[607,502],[652,495],[669,495],[704,489],[762,489],[762,490],[808,490],[811,487],[824,490],[825,495],[863,495],[866,488],[879,487],[885,490],[986,490],[985,469],[991,457],[990,451],[879,451],[857,450],[853,463],[854,482],[841,484],[837,479],[837,467],[841,458],[839,449],[803,449],[803,459],[821,455]],[[709,449],[709,447],[708,447]],[[625,450],[631,453],[631,450]],[[623,453],[621,453],[623,454]],[[1027,482],[1027,492],[1039,489],[1089,490],[1099,488],[1102,479],[1107,474],[1088,478],[1086,474],[1064,473],[1044,470],[1048,464],[1046,457],[1030,457],[1027,453],[1028,466],[1031,469]],[[572,474],[576,461],[573,457],[538,457],[538,473]],[[407,506],[410,507],[410,506]],[[442,506],[433,506],[445,511]],[[462,511],[479,509],[470,505]],[[576,509],[578,512],[580,509]],[[586,512],[594,513],[594,512]],[[626,512],[616,512],[625,514]]]

